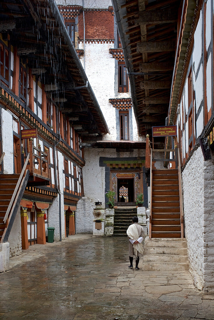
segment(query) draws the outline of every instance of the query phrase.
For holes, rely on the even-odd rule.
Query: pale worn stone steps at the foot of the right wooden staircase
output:
[[[142,271],[189,270],[186,239],[146,237]]]

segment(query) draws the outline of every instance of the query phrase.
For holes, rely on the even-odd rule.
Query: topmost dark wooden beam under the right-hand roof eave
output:
[[[177,21],[177,13],[173,9],[150,10],[139,12],[139,19],[135,20],[135,25],[172,23]]]

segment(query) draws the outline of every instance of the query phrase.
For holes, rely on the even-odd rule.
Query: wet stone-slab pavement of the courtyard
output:
[[[129,270],[126,237],[70,236],[10,265],[0,274],[0,319],[214,319],[214,295],[188,272]]]

